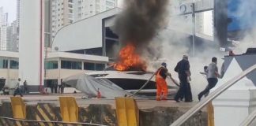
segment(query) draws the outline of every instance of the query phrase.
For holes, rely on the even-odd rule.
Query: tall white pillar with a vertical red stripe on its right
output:
[[[30,85],[43,83],[43,80],[40,81],[41,76],[43,77],[43,67],[40,68],[40,64],[43,65],[43,59],[40,59],[43,53],[40,52],[43,48],[43,45],[40,46],[40,42],[43,42],[41,32],[43,31],[43,20],[41,20],[40,15],[41,1],[21,0],[19,77],[21,81],[27,80]]]

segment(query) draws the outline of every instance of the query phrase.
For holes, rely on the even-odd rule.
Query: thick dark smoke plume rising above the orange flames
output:
[[[138,49],[149,44],[164,27],[168,0],[126,0],[124,5],[114,28],[122,46],[133,43]]]

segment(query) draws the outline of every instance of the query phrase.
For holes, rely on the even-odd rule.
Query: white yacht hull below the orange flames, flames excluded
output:
[[[142,70],[130,69],[128,71],[118,71],[114,66],[105,69],[104,71],[90,72],[88,75],[99,79],[107,79],[123,90],[130,93],[138,91],[152,76],[153,72],[145,72]],[[168,80],[169,95],[175,95],[178,87]],[[149,83],[140,91],[138,95],[156,95],[156,81],[155,77],[149,80]]]

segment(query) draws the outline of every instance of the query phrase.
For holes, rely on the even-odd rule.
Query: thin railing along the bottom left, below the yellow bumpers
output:
[[[14,119],[11,117],[0,117],[1,120],[11,120],[12,124],[20,123],[21,125],[35,125],[35,124],[53,124],[53,125],[59,125],[59,124],[72,124],[72,125],[83,125],[83,126],[107,126],[104,124],[92,124],[92,123],[81,123],[81,122],[65,122],[65,121],[52,121],[52,120],[23,120],[23,119]],[[6,121],[6,125],[7,121]]]

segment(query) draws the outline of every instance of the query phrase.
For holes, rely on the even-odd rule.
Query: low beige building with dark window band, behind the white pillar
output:
[[[54,84],[60,85],[62,79],[69,76],[103,70],[107,62],[108,57],[65,52],[49,53],[44,62],[43,87],[52,87]],[[18,78],[21,78],[22,83],[26,80],[22,76],[19,76],[20,70],[19,54],[17,52],[0,51],[0,80],[5,80],[7,87],[14,88]],[[27,82],[30,92],[38,91],[39,83],[32,83],[29,80]],[[66,89],[74,91],[73,88]]]

